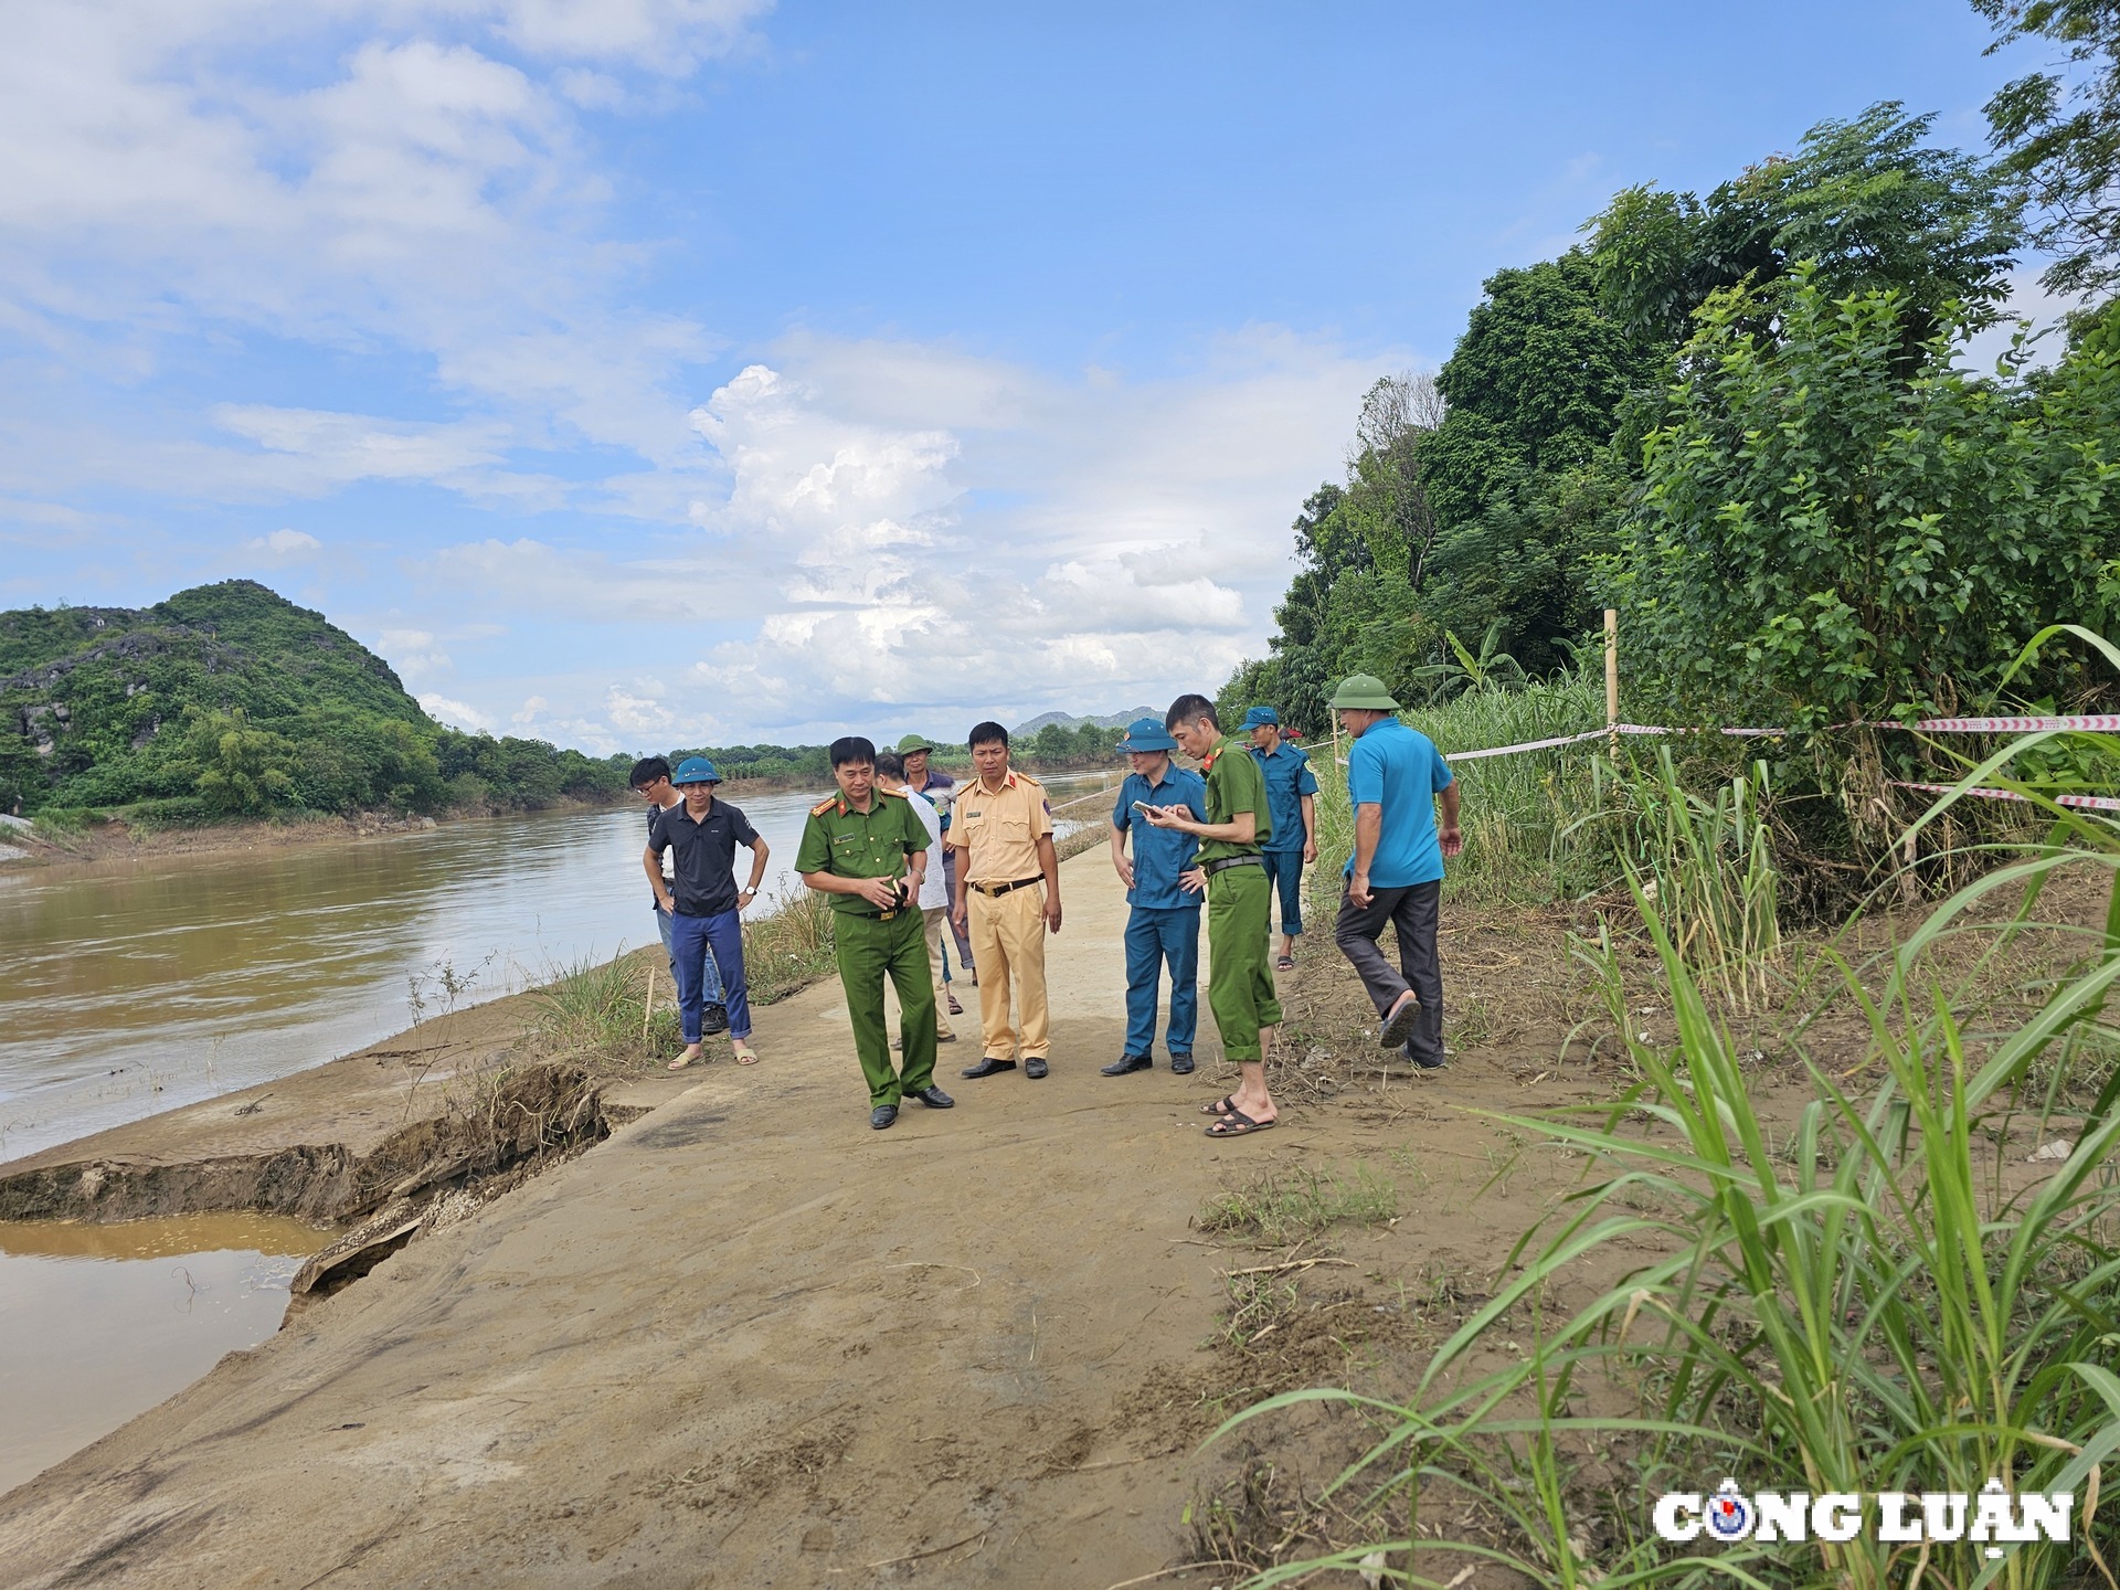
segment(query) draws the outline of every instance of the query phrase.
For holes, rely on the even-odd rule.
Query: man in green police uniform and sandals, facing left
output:
[[[1206,820],[1194,818],[1183,806],[1149,808],[1143,816],[1160,829],[1200,840],[1194,871],[1185,873],[1181,888],[1206,890],[1206,1003],[1215,1011],[1223,1056],[1242,1073],[1234,1094],[1202,1105],[1200,1113],[1215,1117],[1206,1128],[1208,1136],[1249,1136],[1280,1117],[1266,1090],[1266,1056],[1272,1052],[1274,1028],[1280,1026],[1274,971],[1266,958],[1272,888],[1259,859],[1274,837],[1266,776],[1221,731],[1215,704],[1204,695],[1174,700],[1164,727],[1187,757],[1200,759],[1200,772],[1206,774]]]

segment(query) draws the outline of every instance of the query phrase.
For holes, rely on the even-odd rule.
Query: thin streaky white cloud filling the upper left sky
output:
[[[608,182],[579,117],[742,49],[761,11],[23,0],[0,51],[0,333],[127,382],[176,339],[223,331],[388,348],[426,360],[464,409],[396,424],[225,407],[216,424],[284,458],[259,469],[237,452],[193,473],[208,485],[432,479],[545,507],[566,492],[515,481],[509,447],[695,466],[678,384],[714,341],[628,305],[642,252],[602,235]],[[114,445],[17,441],[4,466],[64,485],[95,479]]]

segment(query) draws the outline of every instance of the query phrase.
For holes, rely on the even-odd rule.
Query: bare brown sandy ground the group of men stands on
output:
[[[1234,1073],[1204,1009],[1194,1077],[1096,1075],[1124,901],[1102,850],[1064,878],[1047,1081],[958,1081],[967,1013],[958,1109],[871,1132],[837,986],[761,1009],[755,1071],[710,1066],[0,1499],[0,1584],[1100,1590],[1198,1558],[1187,1507],[1244,1461],[1202,1450],[1219,1416],[1272,1374],[1378,1361],[1344,1325],[1272,1374],[1232,1348],[1225,1270],[1259,1257],[1202,1238],[1204,1202],[1268,1164],[1391,1181],[1406,1217],[1310,1251],[1348,1255],[1317,1274],[1361,1297],[1397,1285],[1380,1340],[1410,1346],[1406,1278],[1478,1289],[1562,1174],[1512,1181],[1461,1107],[1607,1088],[1552,1060],[1554,996],[1554,1024],[1488,1022],[1448,1073],[1350,1073],[1213,1143],[1196,1111]],[[1446,956],[1524,994],[1509,931],[1482,933]],[[1329,939],[1304,958],[1344,1003]]]

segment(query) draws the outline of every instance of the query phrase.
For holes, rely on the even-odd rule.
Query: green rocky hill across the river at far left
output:
[[[390,664],[254,581],[0,613],[0,810],[197,823],[623,791],[621,757],[435,723]]]

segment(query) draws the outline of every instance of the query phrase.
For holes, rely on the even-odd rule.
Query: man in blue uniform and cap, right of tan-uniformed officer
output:
[[[1111,808],[1111,867],[1126,884],[1126,1054],[1105,1066],[1107,1077],[1126,1077],[1155,1064],[1155,996],[1162,969],[1170,967],[1170,1028],[1164,1045],[1170,1068],[1191,1071],[1194,1028],[1200,1024],[1200,903],[1179,878],[1191,871],[1200,842],[1177,829],[1138,823],[1134,803],[1183,806],[1206,820],[1206,780],[1174,767],[1179,742],[1155,719],[1134,719],[1119,750],[1134,772],[1119,784]],[[1134,856],[1126,856],[1126,835],[1134,835]]]

